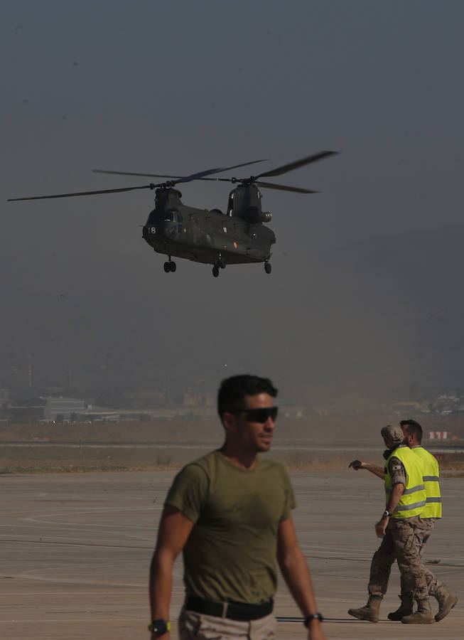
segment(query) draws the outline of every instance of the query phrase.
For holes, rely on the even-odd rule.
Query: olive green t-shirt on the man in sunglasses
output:
[[[188,595],[249,604],[274,595],[277,530],[296,506],[284,466],[258,457],[242,469],[215,451],[177,474],[165,503],[195,525],[183,549]]]

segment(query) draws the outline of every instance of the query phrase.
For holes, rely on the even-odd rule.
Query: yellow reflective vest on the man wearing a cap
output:
[[[423,464],[419,456],[416,456],[409,447],[396,447],[389,455],[385,465],[385,494],[387,503],[392,491],[392,476],[390,476],[388,464],[392,458],[401,460],[406,471],[406,486],[399,503],[396,505],[392,518],[412,518],[422,516],[426,506],[426,489],[423,486]]]

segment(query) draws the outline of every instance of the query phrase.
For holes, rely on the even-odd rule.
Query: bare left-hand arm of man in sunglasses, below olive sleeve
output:
[[[151,619],[169,619],[169,603],[173,584],[173,564],[188,540],[193,522],[181,511],[166,506],[161,515],[158,540],[150,565],[150,608]],[[155,639],[156,634],[152,634]],[[163,640],[169,639],[169,633],[163,634]]]

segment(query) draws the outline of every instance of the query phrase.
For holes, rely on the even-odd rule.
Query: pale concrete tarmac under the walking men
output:
[[[174,473],[0,476],[0,637],[148,638],[149,562]],[[460,602],[442,622],[408,626],[387,619],[399,603],[397,567],[379,623],[347,614],[367,599],[369,562],[379,543],[374,523],[384,508],[382,481],[351,469],[298,471],[291,479],[298,503],[293,517],[328,639],[463,639],[464,479],[442,480],[444,517],[424,552],[431,570]],[[182,600],[178,560],[173,638]],[[432,606],[437,609],[435,600]],[[275,614],[279,638],[307,637],[283,580]]]

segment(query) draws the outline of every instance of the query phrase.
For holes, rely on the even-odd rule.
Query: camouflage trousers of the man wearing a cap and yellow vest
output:
[[[428,535],[428,524],[419,516],[390,519],[382,543],[372,557],[369,595],[383,597],[387,592],[390,571],[396,560],[401,573],[401,592],[413,593],[416,600],[428,599],[426,573],[421,564],[421,549]],[[431,576],[434,578],[433,574]]]

